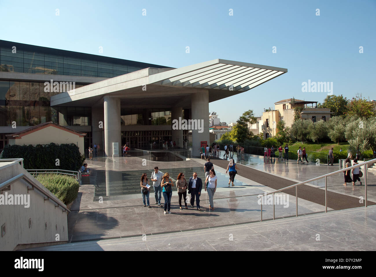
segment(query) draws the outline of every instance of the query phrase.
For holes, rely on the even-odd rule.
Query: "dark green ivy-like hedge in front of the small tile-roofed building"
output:
[[[64,169],[78,171],[85,161],[74,143],[57,145],[6,145],[3,159],[23,158],[25,169]],[[56,166],[59,159],[59,166]]]

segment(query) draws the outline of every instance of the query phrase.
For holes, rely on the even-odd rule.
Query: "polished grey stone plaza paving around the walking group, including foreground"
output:
[[[351,220],[347,214],[356,214],[359,217],[358,220],[361,222],[354,223],[354,226],[366,224],[368,228],[367,236],[375,237],[376,222],[371,213],[371,211],[374,212],[375,206],[334,211],[336,208],[332,209],[328,204],[328,213],[324,213],[325,207],[322,205],[321,199],[314,202],[303,199],[306,197],[304,195],[301,196],[302,198],[299,197],[300,192],[298,190],[299,217],[296,218],[296,198],[294,194],[285,194],[285,196],[288,196],[288,204],[275,205],[276,220],[273,221],[273,205],[263,205],[263,222],[260,222],[261,207],[258,204],[257,196],[275,190],[273,186],[276,184],[272,183],[273,178],[282,177],[283,179],[281,178],[280,180],[283,182],[294,184],[338,170],[338,166],[302,165],[296,164],[294,161],[288,163],[268,163],[265,161],[264,163],[264,160],[259,157],[253,158],[257,158],[259,162],[249,166],[239,165],[241,169],[238,170],[235,187],[227,187],[228,174],[226,176],[226,164],[228,161],[213,159],[212,161],[218,176],[217,191],[214,195],[215,210],[210,211],[208,209],[208,194],[205,190],[202,190],[200,197],[201,211],[197,211],[196,206],[191,208],[189,203],[189,209],[185,209],[183,204],[183,209],[180,210],[178,196],[174,190],[171,199],[172,214],[164,214],[164,209],[155,205],[153,192],[150,193],[150,205],[153,208],[150,209],[143,206],[141,189],[139,188],[141,174],[146,172],[150,178],[153,168],[158,166],[162,172],[171,172],[171,177],[174,179],[176,179],[174,175],[177,175],[177,172],[184,172],[188,181],[188,178],[192,176],[192,170],[195,169],[199,173],[199,177],[204,178],[202,168],[205,160],[192,158],[188,161],[167,163],[145,161],[130,156],[93,158],[92,162],[88,162],[88,167],[91,168],[91,184],[80,187],[79,195],[74,201],[71,212],[68,215],[68,234],[69,242],[71,243],[52,248],[46,247],[45,249],[67,250],[65,247],[69,248],[79,245],[78,243],[96,241],[90,242],[88,245],[85,244],[86,246],[82,246],[84,247],[83,249],[86,249],[85,247],[92,247],[87,250],[101,250],[102,248],[99,245],[103,245],[103,250],[177,250],[177,248],[185,245],[184,243],[187,242],[185,239],[194,236],[197,237],[197,241],[192,244],[186,244],[187,248],[185,249],[226,250],[228,246],[229,249],[227,250],[370,250],[367,248],[368,242],[364,241],[362,243],[360,238],[357,238],[358,244],[351,245],[341,240],[332,241],[332,236],[324,235],[324,238],[330,238],[330,243],[329,241],[325,241],[329,244],[314,244],[315,238],[314,236],[312,237],[312,233],[320,233],[320,230],[323,232],[324,230],[329,231],[329,227],[333,224],[336,224],[338,234],[346,232],[349,224],[344,224],[339,215],[346,217],[346,220]],[[257,172],[253,173],[253,175],[249,173],[245,174],[245,171],[250,170],[257,170]],[[258,173],[264,174],[261,177],[262,180],[258,179],[260,178]],[[136,178],[132,181],[135,183],[134,192],[132,192],[133,188],[129,184],[131,182],[129,179],[131,177],[129,176],[133,176],[132,174],[135,176],[132,178]],[[347,185],[345,187],[342,185],[342,179],[343,175],[340,174],[334,175],[331,179],[328,178],[329,190],[337,196],[343,195],[351,199],[364,196],[364,186],[353,187],[352,185]],[[282,187],[287,186],[284,184],[280,185]],[[309,185],[314,190],[322,190],[320,182]],[[368,175],[367,187],[368,205],[372,205],[374,204],[373,201],[376,200],[376,176],[373,173]],[[99,201],[96,196],[99,192],[105,193],[102,194],[105,195],[103,201]],[[106,192],[109,194],[108,196],[106,196]],[[280,194],[283,195],[284,193]],[[161,202],[162,204],[164,203],[163,197]],[[285,231],[280,229],[281,226],[283,226]],[[351,228],[355,228],[354,226]],[[271,232],[270,234],[274,232],[273,234],[278,236],[287,235],[288,238],[268,238],[268,236],[262,235],[261,230],[263,229],[265,232]],[[228,237],[231,232],[238,234],[237,242],[233,244],[224,243],[226,240],[220,242],[222,238]],[[176,242],[174,239],[176,233],[182,233],[181,242],[174,244],[175,246],[171,248],[171,245],[164,244],[169,239],[171,239],[171,242]],[[219,233],[226,233],[227,235],[218,237]],[[295,236],[293,234],[298,235]],[[213,235],[215,235],[215,239],[212,242],[215,246],[207,242],[208,239],[206,239],[207,236],[210,237]],[[255,244],[253,241],[256,241],[259,235],[263,236],[267,242],[260,241],[259,244]],[[139,244],[138,240],[142,236],[147,236],[148,241],[155,243],[155,246],[149,247],[150,245],[142,241]],[[307,236],[306,239],[308,240],[303,239],[301,236]],[[279,239],[287,239],[291,243],[285,245]],[[102,242],[103,240],[108,241]],[[242,244],[242,241],[244,244]],[[124,244],[127,246],[124,246]],[[163,247],[162,244],[164,245]],[[247,248],[247,245],[250,248]],[[251,245],[253,246],[251,247]],[[294,248],[294,245],[297,245],[297,247]],[[98,249],[96,249],[97,247]],[[200,247],[203,248],[201,249]]]

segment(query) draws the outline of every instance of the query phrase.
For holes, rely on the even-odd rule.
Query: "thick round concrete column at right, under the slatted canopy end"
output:
[[[209,91],[197,90],[191,96],[192,120],[197,120],[200,128],[192,128],[192,155],[200,156],[201,142],[209,145]],[[203,125],[203,126],[202,126]]]

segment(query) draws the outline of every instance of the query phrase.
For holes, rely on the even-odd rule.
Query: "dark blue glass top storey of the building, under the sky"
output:
[[[15,47],[15,48],[14,48]],[[116,77],[165,66],[0,40],[0,71],[50,75]]]

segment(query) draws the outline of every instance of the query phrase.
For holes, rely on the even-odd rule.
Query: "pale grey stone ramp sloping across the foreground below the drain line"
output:
[[[351,227],[349,227],[351,226]],[[105,239],[27,251],[374,251],[376,206],[209,228]]]

